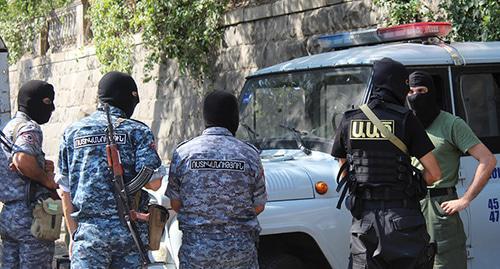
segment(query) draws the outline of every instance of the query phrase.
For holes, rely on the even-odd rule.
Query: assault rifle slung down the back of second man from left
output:
[[[108,119],[108,130],[107,130],[107,142],[106,142],[106,155],[108,159],[108,166],[113,174],[113,190],[115,192],[115,199],[118,209],[118,215],[120,216],[120,221],[128,227],[130,234],[134,239],[134,243],[139,250],[139,255],[141,256],[143,267],[147,267],[151,264],[149,257],[147,255],[144,244],[137,232],[137,226],[135,221],[132,220],[130,214],[130,201],[127,194],[127,188],[123,181],[123,166],[120,159],[120,151],[118,150],[118,145],[115,141],[115,132],[113,130],[113,124],[111,122],[111,115],[109,114],[109,105],[104,104],[104,111],[106,112],[106,117]]]

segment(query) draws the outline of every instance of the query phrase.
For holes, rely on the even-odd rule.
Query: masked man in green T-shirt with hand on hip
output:
[[[442,171],[441,178],[428,187],[428,195],[421,201],[427,231],[431,241],[438,245],[434,268],[465,269],[466,236],[458,213],[468,207],[486,185],[496,159],[461,118],[440,110],[436,87],[429,73],[416,71],[410,75],[407,100],[434,144],[432,153]],[[471,185],[458,198],[455,185],[463,153],[476,158],[479,164]]]

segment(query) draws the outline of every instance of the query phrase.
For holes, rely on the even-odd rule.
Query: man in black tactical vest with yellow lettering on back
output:
[[[376,61],[372,84],[367,111],[360,107],[344,113],[332,149],[341,167],[338,189],[343,188],[337,207],[345,198],[353,217],[349,268],[427,268],[419,267],[429,263],[430,248],[418,198],[424,182],[412,176],[409,156],[422,162],[425,183],[431,185],[440,176],[434,147],[404,107],[406,68],[390,58]]]

